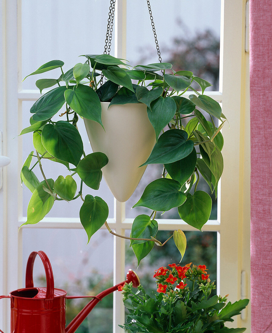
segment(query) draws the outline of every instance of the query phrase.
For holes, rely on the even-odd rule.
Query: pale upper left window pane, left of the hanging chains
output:
[[[22,79],[48,61],[58,59],[68,71],[84,63],[84,54],[102,54],[108,23],[109,0],[23,0]],[[111,54],[114,55],[114,31]],[[41,78],[58,78],[60,69],[28,77],[23,89],[37,89]]]

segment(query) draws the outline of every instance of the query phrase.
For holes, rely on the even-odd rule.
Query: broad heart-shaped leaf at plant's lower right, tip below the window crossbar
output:
[[[212,210],[212,199],[204,191],[187,194],[183,205],[178,207],[179,216],[189,225],[199,229],[208,221]]]

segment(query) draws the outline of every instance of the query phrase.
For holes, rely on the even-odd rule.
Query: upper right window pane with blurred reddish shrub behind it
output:
[[[162,61],[209,81],[213,87],[207,90],[218,90],[221,1],[157,0],[151,10]],[[127,1],[126,52],[133,65],[158,62],[146,0]]]

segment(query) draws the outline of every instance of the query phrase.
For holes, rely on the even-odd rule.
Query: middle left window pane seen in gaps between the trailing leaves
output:
[[[23,102],[23,123],[22,123],[22,128],[26,128],[29,125],[29,118],[30,118],[30,113],[29,110],[31,106],[33,105],[33,102]],[[59,114],[62,113],[62,110],[58,112],[56,116],[52,118],[59,120]],[[79,117],[78,121],[78,129],[82,137],[83,145],[84,145],[84,151],[87,154],[92,153],[91,146],[89,144],[89,139],[87,136],[87,132],[85,130],[84,122],[83,120]],[[34,149],[33,144],[32,144],[32,133],[27,133],[24,134],[23,136],[19,137],[18,140],[23,140],[23,162],[26,160],[27,156],[30,154],[31,150]],[[35,157],[33,157],[31,166],[34,165],[34,163],[37,161]],[[59,175],[63,175],[64,177],[67,176],[68,174],[71,174],[67,168],[60,164],[60,163],[54,163],[51,161],[47,161],[46,159],[42,160],[42,165],[44,166],[44,172],[45,176],[47,178],[53,178],[54,180],[57,179]],[[74,167],[70,165],[71,167]],[[43,180],[42,174],[39,168],[39,165],[36,165],[33,169],[34,173],[38,177],[40,181]],[[74,176],[74,179],[77,182],[77,192],[80,189],[80,178],[76,174]],[[27,216],[27,207],[28,207],[28,202],[31,197],[31,192],[30,190],[23,184],[23,188],[25,190],[23,191],[23,216]],[[113,218],[114,214],[114,198],[112,193],[110,192],[108,185],[106,184],[105,180],[102,178],[100,187],[98,190],[93,190],[87,185],[83,183],[83,197],[85,197],[86,194],[91,194],[93,196],[100,196],[103,200],[105,200],[109,206],[109,218]],[[82,205],[82,200],[80,198],[77,198],[76,200],[73,201],[57,201],[54,203],[54,206],[48,213],[48,217],[79,217],[79,210]]]

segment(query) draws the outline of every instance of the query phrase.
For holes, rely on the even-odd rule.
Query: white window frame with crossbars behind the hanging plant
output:
[[[3,170],[0,189],[0,293],[8,294],[22,286],[22,229],[26,221],[22,214],[20,169],[22,144],[12,140],[21,130],[22,101],[35,101],[37,90],[21,88],[21,1],[2,0],[2,45],[0,82],[0,130],[3,132],[3,155],[11,164]],[[219,0],[218,0],[219,1]],[[116,0],[115,56],[126,59],[126,0]],[[222,295],[230,294],[234,302],[250,296],[250,162],[249,162],[249,73],[248,54],[245,52],[246,0],[221,0],[220,85],[219,92],[208,92],[222,103],[229,120],[223,128],[224,172],[219,188],[218,219],[209,220],[204,231],[218,231],[217,283]],[[16,68],[17,67],[17,68]],[[18,113],[16,113],[18,110]],[[12,191],[10,190],[12,189]],[[123,234],[131,228],[133,219],[125,217],[125,203],[114,203],[114,218],[109,226]],[[49,218],[31,228],[82,228],[79,218]],[[159,220],[160,230],[193,230],[181,220]],[[118,258],[118,259],[117,259]],[[125,267],[125,241],[114,238],[114,283],[122,281]],[[243,281],[241,281],[241,272]],[[246,281],[246,277],[248,281]],[[242,283],[242,285],[241,285]],[[242,293],[241,294],[241,290]],[[124,323],[122,294],[114,293],[114,329]],[[0,301],[0,328],[9,331],[9,301]],[[250,309],[237,316],[233,327],[247,327],[250,331]],[[237,327],[237,326],[236,326]]]

